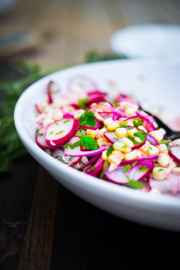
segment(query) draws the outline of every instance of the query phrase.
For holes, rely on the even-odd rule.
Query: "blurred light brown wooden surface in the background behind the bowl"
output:
[[[13,58],[42,64],[83,61],[88,50],[111,52],[110,36],[141,23],[180,24],[178,0],[19,0],[0,18],[0,34],[30,29],[34,38]]]

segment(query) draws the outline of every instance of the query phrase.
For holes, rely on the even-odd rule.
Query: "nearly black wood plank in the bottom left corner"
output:
[[[38,163],[18,158],[0,181],[0,269],[17,269],[28,225]],[[33,169],[32,169],[33,168]]]

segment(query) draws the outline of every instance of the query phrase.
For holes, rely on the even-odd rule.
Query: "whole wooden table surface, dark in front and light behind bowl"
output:
[[[179,1],[19,0],[0,18],[0,34],[30,29],[34,40],[8,50],[14,59],[57,65],[84,61],[97,49],[111,53],[109,38],[140,23],[180,24]],[[27,50],[28,49],[28,50]],[[1,68],[1,78],[9,66]],[[104,270],[175,268],[180,233],[136,224],[80,199],[30,155],[0,174],[0,269]]]

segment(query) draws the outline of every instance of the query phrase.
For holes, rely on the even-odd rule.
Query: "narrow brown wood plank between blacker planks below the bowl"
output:
[[[59,183],[41,166],[32,200],[19,270],[48,270]]]

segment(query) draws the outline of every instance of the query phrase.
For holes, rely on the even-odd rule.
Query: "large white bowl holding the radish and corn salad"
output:
[[[29,153],[62,185],[87,202],[119,217],[153,227],[180,231],[180,197],[157,197],[110,183],[68,167],[35,143],[35,104],[40,103],[49,80],[67,91],[69,80],[84,75],[109,89],[133,94],[145,107],[165,108],[165,115],[180,117],[180,64],[152,60],[114,60],[64,69],[34,83],[19,98],[14,113],[16,130]]]

